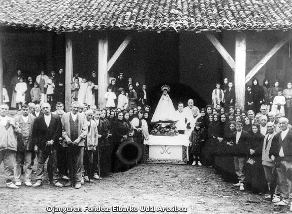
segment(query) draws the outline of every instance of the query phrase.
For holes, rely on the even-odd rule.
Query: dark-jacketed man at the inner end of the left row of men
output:
[[[106,145],[108,143],[109,131],[106,123],[101,119],[102,111],[100,109],[96,109],[94,117],[92,118],[96,125],[98,126],[98,138],[99,138],[99,147]],[[96,180],[101,179],[99,177],[99,158],[101,160],[101,153],[102,148],[100,148],[97,152],[93,154],[93,178]],[[99,153],[98,153],[99,152]],[[105,157],[107,158],[107,157]],[[104,157],[103,157],[104,159]],[[108,159],[110,161],[110,158]]]

